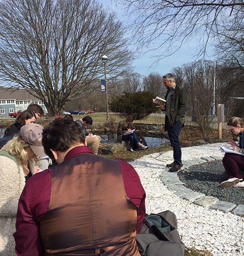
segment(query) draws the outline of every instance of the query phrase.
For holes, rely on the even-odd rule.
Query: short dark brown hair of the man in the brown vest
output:
[[[71,146],[85,143],[81,126],[68,118],[53,120],[42,133],[42,145],[45,153],[53,159],[50,149],[65,152]]]

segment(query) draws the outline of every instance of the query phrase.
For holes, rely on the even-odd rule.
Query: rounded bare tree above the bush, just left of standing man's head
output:
[[[159,73],[150,73],[143,78],[144,90],[155,96],[163,96],[166,89],[163,86],[163,76]]]

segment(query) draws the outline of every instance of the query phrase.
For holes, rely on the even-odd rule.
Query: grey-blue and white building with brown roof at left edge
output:
[[[44,103],[23,89],[9,89],[0,87],[0,116],[8,113],[24,111],[30,103],[38,104],[46,112]]]

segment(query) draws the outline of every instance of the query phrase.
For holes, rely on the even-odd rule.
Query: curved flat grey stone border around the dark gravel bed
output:
[[[184,161],[182,170],[187,170],[191,165],[211,162],[214,160],[222,160],[222,158],[218,156],[210,156],[210,157],[201,157],[201,159]],[[175,191],[176,195],[199,206],[203,206],[203,207],[207,207],[215,210],[221,210],[224,212],[231,212],[241,217],[244,216],[244,205],[236,205],[236,204],[220,201],[216,197],[206,196],[203,193],[195,192],[183,186],[183,182],[180,181],[177,173],[178,172],[164,171],[160,175],[163,184],[167,186],[169,190]]]

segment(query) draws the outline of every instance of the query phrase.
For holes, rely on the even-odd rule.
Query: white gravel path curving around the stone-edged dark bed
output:
[[[219,151],[223,145],[226,146],[225,143],[215,143],[182,148],[182,161],[224,156]],[[131,163],[146,191],[146,213],[173,211],[186,247],[208,250],[213,256],[244,256],[244,218],[197,206],[169,191],[160,175],[168,170],[165,165],[172,160],[173,151],[168,151],[150,154]]]

